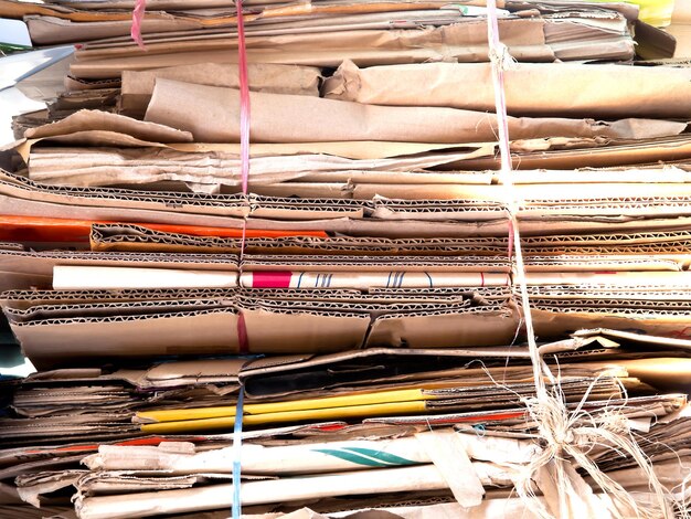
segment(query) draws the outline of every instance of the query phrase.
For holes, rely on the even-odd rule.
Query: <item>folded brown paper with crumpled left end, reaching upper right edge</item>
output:
[[[691,116],[691,70],[616,64],[519,63],[504,72],[511,115],[566,117]],[[564,92],[577,95],[564,95]],[[372,105],[495,110],[491,66],[422,63],[358,68],[346,61],[325,97]]]

